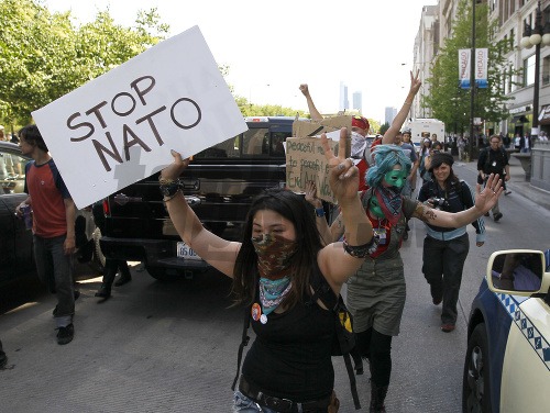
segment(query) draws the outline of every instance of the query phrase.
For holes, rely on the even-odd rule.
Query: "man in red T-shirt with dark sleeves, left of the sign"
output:
[[[57,344],[64,345],[70,343],[75,334],[73,316],[75,298],[79,295],[73,283],[76,206],[38,127],[24,126],[19,138],[22,154],[33,160],[25,166],[24,192],[29,197],[15,212],[23,216],[21,208],[32,208],[36,271],[41,281],[57,295],[54,309]]]

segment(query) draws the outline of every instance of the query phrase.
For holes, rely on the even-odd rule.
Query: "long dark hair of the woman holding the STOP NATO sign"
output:
[[[309,276],[317,265],[317,254],[322,244],[311,206],[304,196],[286,189],[265,190],[252,201],[243,228],[241,249],[237,256],[231,292],[235,303],[251,304],[255,299],[258,276],[257,255],[252,244],[252,221],[256,212],[262,210],[275,211],[295,226],[299,248],[290,264],[295,268],[290,275],[293,287],[283,301],[284,305],[292,308],[301,300],[306,291],[309,293]]]

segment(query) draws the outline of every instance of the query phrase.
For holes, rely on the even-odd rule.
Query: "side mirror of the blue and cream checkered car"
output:
[[[540,292],[544,267],[542,252],[514,249],[493,253],[487,263],[488,288],[517,295]]]

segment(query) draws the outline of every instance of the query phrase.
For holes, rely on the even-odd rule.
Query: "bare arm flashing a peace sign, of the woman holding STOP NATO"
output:
[[[345,159],[346,129],[340,132],[339,156],[336,157],[324,134],[321,144],[329,165],[329,183],[340,205],[345,227],[344,243],[327,245],[318,255],[318,264],[334,291],[361,267],[373,239],[373,227],[358,194],[359,171]]]

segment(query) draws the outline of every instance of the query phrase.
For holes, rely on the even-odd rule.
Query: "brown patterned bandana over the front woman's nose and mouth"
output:
[[[290,258],[298,250],[298,243],[279,235],[262,234],[252,238],[257,254],[257,270],[260,277],[278,280],[292,272]]]

